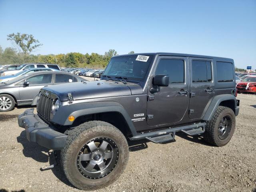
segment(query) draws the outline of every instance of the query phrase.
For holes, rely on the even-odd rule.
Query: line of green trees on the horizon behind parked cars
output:
[[[105,68],[112,56],[118,55],[116,50],[110,49],[104,55],[98,53],[82,54],[79,52],[70,52],[67,54],[31,54],[43,44],[35,39],[33,35],[12,33],[7,35],[15,48],[8,47],[4,50],[0,46],[0,65],[5,64],[23,64],[23,63],[51,63],[58,64],[61,67],[70,68]],[[134,51],[128,54],[134,54]],[[238,72],[246,72],[246,69],[236,68]]]

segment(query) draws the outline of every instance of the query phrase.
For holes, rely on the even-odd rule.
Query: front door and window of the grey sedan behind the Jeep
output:
[[[31,103],[41,88],[52,85],[52,74],[32,76],[25,81],[29,82],[29,86],[20,85],[20,100],[22,103]]]

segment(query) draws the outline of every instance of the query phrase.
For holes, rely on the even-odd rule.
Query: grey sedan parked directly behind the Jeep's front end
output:
[[[38,93],[45,86],[86,81],[67,72],[34,72],[0,84],[0,112],[10,111],[15,104],[36,105]]]

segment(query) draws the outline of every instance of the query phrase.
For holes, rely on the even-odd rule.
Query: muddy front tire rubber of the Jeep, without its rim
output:
[[[118,162],[108,175],[99,179],[86,178],[78,170],[77,157],[87,142],[100,137],[111,138],[116,143],[119,151]],[[102,121],[85,122],[74,128],[68,134],[66,144],[60,152],[60,163],[66,178],[82,190],[95,190],[114,182],[126,168],[128,158],[129,148],[124,134],[112,124]]]

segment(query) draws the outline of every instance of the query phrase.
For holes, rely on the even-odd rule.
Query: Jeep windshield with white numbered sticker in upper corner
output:
[[[126,77],[128,80],[144,81],[153,56],[122,56],[112,58],[103,76]]]

